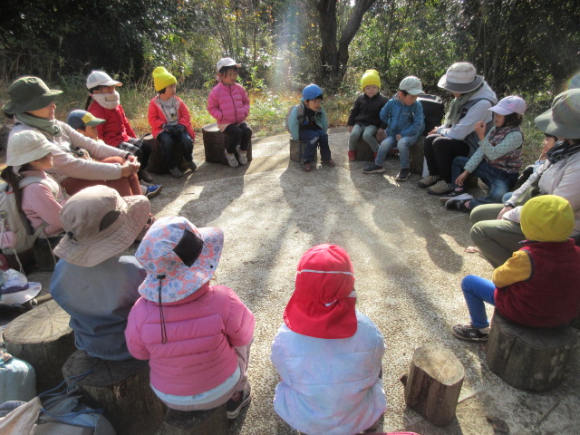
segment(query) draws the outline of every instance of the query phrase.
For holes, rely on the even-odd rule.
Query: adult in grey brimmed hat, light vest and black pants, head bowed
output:
[[[453,94],[454,100],[445,115],[445,124],[430,131],[425,139],[425,159],[429,176],[419,181],[420,188],[429,188],[431,195],[442,195],[453,189],[451,163],[458,156],[471,157],[478,149],[476,122],[491,121],[488,111],[498,102],[475,66],[467,62],[453,63],[437,84]]]

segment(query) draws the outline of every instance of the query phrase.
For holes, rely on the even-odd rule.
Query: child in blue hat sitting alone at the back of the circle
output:
[[[302,91],[300,104],[294,106],[288,115],[288,130],[292,139],[306,142],[304,155],[302,156],[302,169],[306,172],[312,170],[311,163],[314,161],[316,148],[320,147],[322,162],[331,168],[334,160],[328,146],[328,120],[322,107],[323,90],[320,86],[309,84]]]

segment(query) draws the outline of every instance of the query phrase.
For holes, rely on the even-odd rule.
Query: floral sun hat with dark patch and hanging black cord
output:
[[[186,218],[160,218],[135,253],[147,270],[140,295],[158,304],[192,295],[215,274],[223,247],[219,228],[198,228]]]

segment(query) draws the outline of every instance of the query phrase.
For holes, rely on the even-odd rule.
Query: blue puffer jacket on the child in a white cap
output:
[[[400,134],[403,138],[415,136],[425,128],[425,116],[420,102],[408,106],[399,101],[395,94],[381,111],[381,121],[387,125],[387,136]]]

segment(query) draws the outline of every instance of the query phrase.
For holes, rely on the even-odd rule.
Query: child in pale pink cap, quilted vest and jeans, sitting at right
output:
[[[486,125],[475,124],[479,138],[479,148],[471,158],[458,156],[451,168],[454,190],[447,196],[447,209],[470,211],[481,204],[501,201],[501,198],[516,184],[518,170],[522,166],[522,144],[524,133],[519,128],[526,111],[526,102],[520,97],[510,95],[488,109],[493,112],[494,127],[486,136]],[[475,174],[489,188],[483,198],[465,196],[463,183]],[[459,197],[461,198],[453,198]]]

